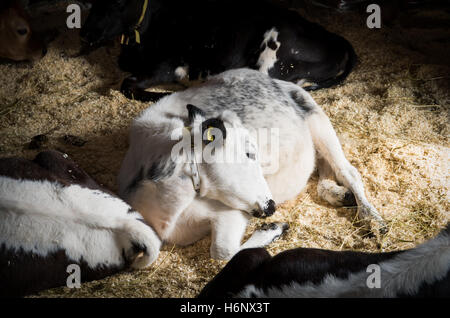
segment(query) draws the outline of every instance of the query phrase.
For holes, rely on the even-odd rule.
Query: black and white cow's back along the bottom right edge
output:
[[[399,252],[243,250],[199,297],[450,297],[450,224]]]

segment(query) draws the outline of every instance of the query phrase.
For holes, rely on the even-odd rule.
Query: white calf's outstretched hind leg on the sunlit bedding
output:
[[[325,113],[317,107],[307,118],[314,146],[319,155],[331,166],[337,180],[350,189],[358,204],[358,214],[362,219],[373,218],[386,230],[386,225],[378,211],[369,203],[364,193],[360,174],[345,158],[339,139]]]

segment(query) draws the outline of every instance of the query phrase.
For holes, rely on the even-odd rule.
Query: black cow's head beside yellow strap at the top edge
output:
[[[150,5],[153,6],[151,1],[144,4],[145,0],[95,1],[81,29],[82,40],[90,46],[100,46],[122,34],[132,34],[137,27],[143,28]]]

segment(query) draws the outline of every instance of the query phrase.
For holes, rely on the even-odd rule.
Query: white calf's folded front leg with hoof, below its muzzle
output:
[[[287,230],[286,223],[271,223],[256,230],[241,245],[250,216],[241,211],[221,211],[212,220],[211,257],[228,260],[246,248],[263,247]]]

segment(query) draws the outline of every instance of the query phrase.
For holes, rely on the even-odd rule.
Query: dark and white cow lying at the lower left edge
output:
[[[0,159],[0,297],[142,268],[160,240],[141,215],[100,187],[66,154]]]

